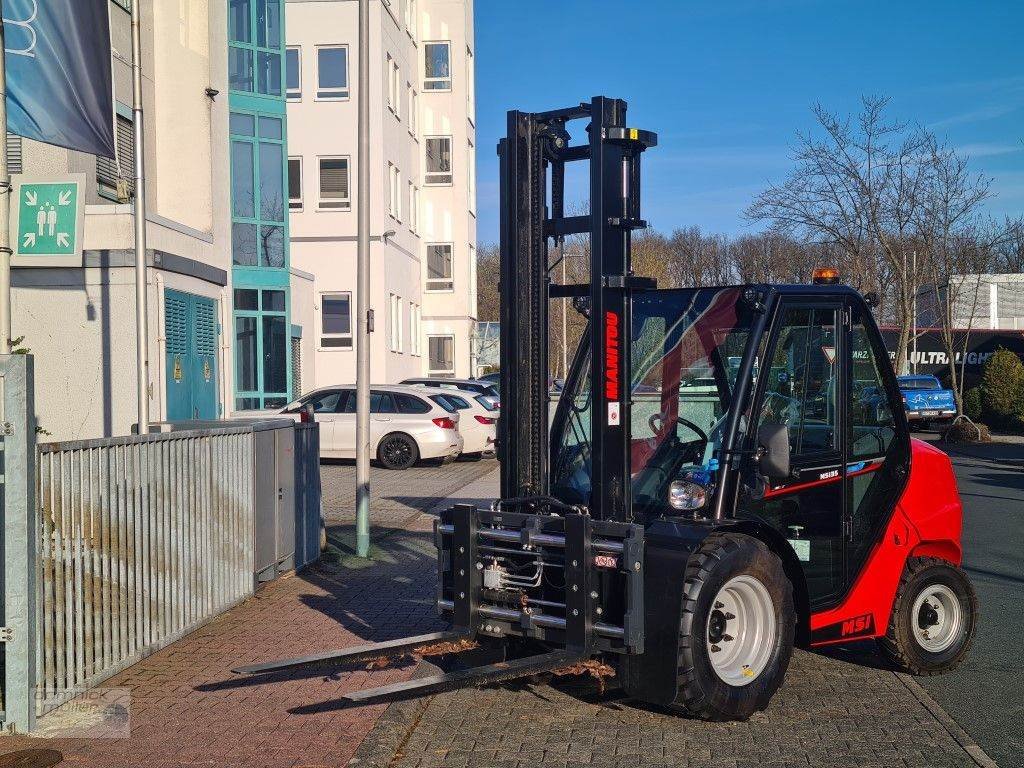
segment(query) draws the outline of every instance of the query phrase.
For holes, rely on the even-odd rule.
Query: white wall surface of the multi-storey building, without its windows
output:
[[[456,371],[470,375],[470,338],[475,315],[475,220],[470,213],[470,169],[474,167],[467,118],[464,75],[467,57],[456,55],[472,44],[471,2],[466,0],[371,2],[371,296],[375,332],[371,337],[372,376],[395,382],[428,372],[428,336],[456,339]],[[288,43],[296,49],[301,93],[289,98],[289,157],[301,162],[300,199],[293,202],[293,264],[314,275],[315,373],[317,386],[355,379],[357,211],[358,3],[353,0],[289,0]],[[452,39],[451,92],[424,90],[424,41],[430,35]],[[449,39],[449,38],[445,38]],[[347,94],[318,86],[317,48],[347,47]],[[391,68],[397,67],[395,103],[389,104]],[[415,92],[415,101],[412,94]],[[458,109],[454,109],[455,105]],[[454,112],[453,112],[454,110]],[[431,186],[425,178],[426,137],[453,139],[451,185]],[[319,205],[322,158],[348,160],[349,205]],[[397,169],[398,210],[391,208],[391,173]],[[413,189],[418,190],[414,197]],[[418,201],[418,202],[417,202]],[[426,245],[452,243],[454,290],[430,293],[426,287]],[[349,338],[325,336],[325,302],[347,297]],[[417,322],[415,318],[419,318]]]

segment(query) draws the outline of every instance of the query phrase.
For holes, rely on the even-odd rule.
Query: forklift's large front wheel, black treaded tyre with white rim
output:
[[[709,537],[690,556],[685,579],[671,709],[746,720],[768,706],[790,666],[793,585],[779,557],[742,534]]]

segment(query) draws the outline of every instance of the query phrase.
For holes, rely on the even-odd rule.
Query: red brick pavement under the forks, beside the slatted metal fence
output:
[[[432,519],[418,509],[436,506],[437,497],[467,483],[479,488],[474,493],[493,493],[494,480],[484,478],[481,485],[479,478],[496,467],[489,462],[429,468],[444,474],[429,482],[408,482],[416,489],[410,493],[423,494],[418,501],[397,496],[406,473],[388,473],[394,479],[388,477],[390,484],[381,481],[378,487],[390,488],[391,502],[404,509],[407,520],[411,514],[419,519],[378,537],[372,563],[336,552],[336,562],[265,585],[234,609],[105,682],[103,687],[130,690],[130,737],[5,736],[0,737],[0,754],[55,749],[65,764],[89,768],[346,765],[384,707],[316,711],[315,705],[406,679],[413,674],[411,665],[372,672],[365,667],[293,672],[263,680],[233,678],[229,670],[441,629],[433,603]],[[414,478],[406,474],[404,479]],[[337,505],[333,487],[325,482],[325,499]],[[67,717],[62,708],[41,725],[51,729]]]

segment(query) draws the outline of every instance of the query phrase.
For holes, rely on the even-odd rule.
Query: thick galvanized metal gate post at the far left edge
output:
[[[4,727],[36,727],[36,409],[31,355],[0,356],[3,379]]]

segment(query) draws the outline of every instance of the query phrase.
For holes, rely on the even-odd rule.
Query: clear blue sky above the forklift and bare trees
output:
[[[862,94],[921,123],[994,180],[991,213],[1024,213],[1024,2],[476,0],[479,232],[498,240],[498,160],[510,109],[625,98],[654,130],[644,217],[726,233],[792,167],[810,106]]]

